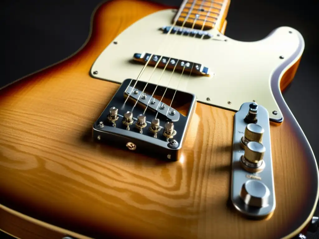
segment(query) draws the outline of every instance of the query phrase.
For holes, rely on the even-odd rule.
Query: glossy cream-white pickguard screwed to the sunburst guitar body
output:
[[[296,54],[299,45],[304,44],[299,32],[280,27],[255,42],[236,41],[216,30],[210,33],[214,39],[222,40],[163,34],[159,28],[171,25],[174,14],[172,10],[158,11],[128,27],[114,39],[117,44],[112,42],[100,54],[92,66],[91,75],[118,83],[128,78],[136,79],[143,64],[131,62],[134,53],[146,52],[196,62],[208,67],[214,75],[189,77],[185,73],[181,77],[181,73],[176,72],[170,80],[172,72],[167,70],[160,79],[162,69],[155,69],[152,75],[153,67],[148,66],[140,80],[178,88],[195,94],[199,102],[234,111],[239,110],[242,103],[255,100],[268,110],[271,119],[282,119],[271,92],[271,76],[280,65],[286,63],[284,69],[289,69],[301,56],[303,47]],[[288,60],[293,55],[296,57]],[[284,56],[284,59],[279,56]],[[94,71],[98,74],[94,75]],[[273,111],[278,114],[274,115]]]

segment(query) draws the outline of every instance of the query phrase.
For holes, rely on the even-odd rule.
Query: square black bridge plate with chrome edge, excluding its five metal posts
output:
[[[179,151],[182,148],[183,141],[186,135],[186,131],[191,119],[191,116],[195,110],[196,97],[193,94],[185,93],[182,91],[176,91],[175,89],[166,88],[163,86],[157,86],[155,84],[138,81],[134,86],[136,80],[126,79],[123,81],[105,110],[93,125],[93,139],[98,142],[105,142],[112,144],[117,148],[130,150],[130,152],[137,152],[146,154],[151,157],[160,158],[162,160],[176,161],[179,159]],[[146,88],[145,88],[146,85]],[[134,88],[132,88],[134,86]],[[166,107],[176,111],[174,116],[171,116],[161,112],[161,109],[153,107],[151,103],[144,102],[145,99],[138,98],[136,95],[141,95],[143,89],[146,92],[147,98],[152,96],[156,99],[156,102],[160,103],[162,96],[168,102],[174,96],[172,107]],[[132,92],[128,96],[127,92],[131,92],[133,89],[137,91],[137,94]],[[124,104],[125,99],[128,98]],[[147,99],[146,98],[146,99]],[[137,102],[138,101],[138,102]],[[135,103],[139,103],[136,104]],[[146,105],[149,104],[145,111]],[[166,104],[166,102],[165,102]],[[133,106],[135,107],[133,108]],[[185,106],[186,105],[186,106]],[[115,107],[118,109],[117,118],[115,121],[109,121],[110,108]],[[187,112],[183,115],[181,112],[177,112],[182,109],[183,112]],[[127,112],[133,113],[132,123],[130,125],[123,123],[124,114]],[[145,112],[145,113],[144,113]],[[141,114],[146,116],[146,126],[137,127],[137,117]],[[185,114],[185,113],[184,113]],[[154,133],[150,130],[152,120],[159,119],[159,131]],[[174,134],[171,137],[163,135],[165,124],[167,122],[173,122]]]

